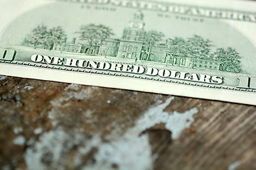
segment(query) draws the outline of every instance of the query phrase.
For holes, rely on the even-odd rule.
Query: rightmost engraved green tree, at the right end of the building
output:
[[[225,72],[241,72],[241,58],[239,53],[228,47],[226,50],[224,48],[217,48],[214,52],[217,60],[220,61],[220,70]]]

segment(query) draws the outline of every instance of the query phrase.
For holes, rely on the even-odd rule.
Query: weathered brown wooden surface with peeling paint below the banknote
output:
[[[255,106],[0,79],[0,169],[144,169],[150,161],[147,169],[256,169]],[[138,122],[145,114],[169,114],[171,120],[174,113],[182,116],[191,109],[194,120],[176,139],[168,122],[144,129],[146,122]],[[106,146],[114,147],[100,159]]]

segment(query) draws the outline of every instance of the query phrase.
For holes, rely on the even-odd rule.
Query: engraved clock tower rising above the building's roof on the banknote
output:
[[[134,18],[129,21],[128,27],[124,28],[122,35],[123,40],[142,40],[145,26],[143,18],[144,16],[141,11],[134,13]]]

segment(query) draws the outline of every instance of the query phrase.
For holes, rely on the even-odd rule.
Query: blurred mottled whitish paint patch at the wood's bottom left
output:
[[[80,133],[75,133],[75,135],[68,134],[61,128],[43,133],[38,142],[26,149],[24,159],[27,169],[50,169],[49,166],[42,162],[42,159],[47,159],[51,167],[63,167],[66,161],[62,159],[63,154],[68,155],[70,149],[82,141],[86,141],[86,138]]]

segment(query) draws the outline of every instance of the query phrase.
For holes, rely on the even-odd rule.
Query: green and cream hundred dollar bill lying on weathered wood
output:
[[[0,1],[0,74],[256,105],[252,1]]]

